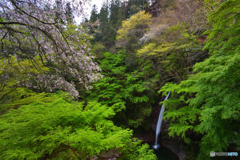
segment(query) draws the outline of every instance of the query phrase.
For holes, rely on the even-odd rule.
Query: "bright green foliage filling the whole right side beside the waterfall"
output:
[[[166,84],[160,90],[173,92],[165,116],[174,121],[169,134],[185,137],[191,129],[203,135],[199,159],[210,159],[211,151],[227,151],[231,146],[240,150],[239,9],[238,1],[227,0],[210,13],[213,29],[206,31],[204,49],[209,49],[212,56],[197,63],[197,73],[188,80],[179,85]]]

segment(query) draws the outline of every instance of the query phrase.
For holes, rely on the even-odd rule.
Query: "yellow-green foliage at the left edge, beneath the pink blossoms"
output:
[[[45,95],[19,87],[20,81],[28,83],[32,79],[29,75],[41,75],[49,70],[43,66],[40,57],[34,57],[34,61],[35,64],[27,59],[17,60],[14,56],[0,60],[0,114],[9,108],[38,101]]]

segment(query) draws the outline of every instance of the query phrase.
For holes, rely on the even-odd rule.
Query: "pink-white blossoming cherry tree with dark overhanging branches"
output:
[[[91,81],[102,77],[90,53],[87,32],[81,26],[71,25],[70,30],[66,25],[66,6],[71,7],[76,16],[83,14],[83,2],[79,0],[0,1],[0,59],[11,58],[4,61],[11,72],[24,70],[21,62],[26,59],[37,71],[25,73],[28,78],[21,78],[19,74],[9,75],[8,70],[4,70],[7,64],[3,63],[0,65],[1,86],[9,78],[15,78],[17,86],[48,92],[62,89],[78,97],[76,84],[88,89]],[[9,65],[13,61],[15,65]]]

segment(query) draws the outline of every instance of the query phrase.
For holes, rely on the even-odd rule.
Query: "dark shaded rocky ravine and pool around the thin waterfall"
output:
[[[142,128],[141,132],[135,133],[135,137],[142,140],[142,144],[147,143],[153,149],[153,146],[156,141],[156,129],[157,129],[157,123],[160,115],[160,111],[162,106],[159,105],[160,102],[164,101],[166,97],[160,97],[160,99],[155,103],[150,119],[150,131],[144,130]],[[146,126],[147,127],[147,126]],[[160,152],[159,150],[154,150],[155,154],[158,157],[158,160],[184,160],[185,158],[185,151],[181,147],[181,143],[178,142],[176,139],[173,137],[170,137],[168,135],[168,128],[169,128],[169,122],[168,120],[163,120],[162,125],[161,125],[161,133],[158,135],[158,144],[161,146]],[[164,153],[162,153],[164,152]],[[170,155],[166,155],[170,154]],[[170,157],[170,158],[169,158]]]

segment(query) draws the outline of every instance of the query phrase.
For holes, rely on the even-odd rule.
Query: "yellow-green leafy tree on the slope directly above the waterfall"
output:
[[[177,24],[162,31],[155,41],[146,43],[136,53],[139,59],[151,60],[155,74],[164,81],[186,79],[192,66],[190,55],[201,48],[195,44],[195,36],[187,25]]]

